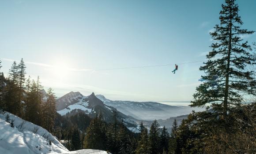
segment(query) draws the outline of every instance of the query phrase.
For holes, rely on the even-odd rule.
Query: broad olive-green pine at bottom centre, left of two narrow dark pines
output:
[[[151,154],[151,143],[147,134],[147,129],[143,129],[141,133],[136,154]]]

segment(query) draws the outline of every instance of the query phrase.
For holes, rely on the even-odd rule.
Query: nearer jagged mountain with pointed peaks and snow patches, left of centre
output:
[[[102,113],[103,119],[106,122],[111,122],[113,110],[115,110],[114,107],[104,104],[94,93],[84,96],[80,92],[70,92],[57,99],[57,112],[62,116],[78,111],[83,111],[90,117],[95,117],[97,114]],[[121,121],[122,119],[130,130],[137,132],[138,125],[135,118],[118,111],[118,120]]]

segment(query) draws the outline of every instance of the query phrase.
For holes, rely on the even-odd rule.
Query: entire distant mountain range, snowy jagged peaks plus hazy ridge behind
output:
[[[113,110],[118,111],[118,120],[123,119],[124,124],[135,132],[138,131],[138,122],[144,121],[150,126],[154,119],[157,119],[161,126],[171,127],[176,118],[178,123],[186,118],[192,110],[204,110],[202,108],[191,108],[189,106],[170,106],[157,102],[135,102],[109,100],[103,95],[84,96],[80,92],[69,92],[57,99],[56,109],[60,115],[72,114],[83,111],[90,117],[102,113],[106,122],[111,122]],[[183,115],[183,116],[182,116]]]

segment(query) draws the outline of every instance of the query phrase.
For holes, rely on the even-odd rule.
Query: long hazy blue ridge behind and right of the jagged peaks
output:
[[[96,97],[108,106],[117,108],[120,112],[140,120],[167,119],[191,113],[192,110],[204,110],[202,108],[191,108],[189,106],[170,106],[157,102],[134,102],[109,100],[103,95]]]

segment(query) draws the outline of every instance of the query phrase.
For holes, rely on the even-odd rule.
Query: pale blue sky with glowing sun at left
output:
[[[58,97],[73,91],[111,100],[190,101],[222,3],[0,0],[0,71],[7,75],[23,58],[26,76],[39,76]],[[237,4],[242,28],[256,30],[256,0]],[[256,35],[244,39],[252,43]]]

